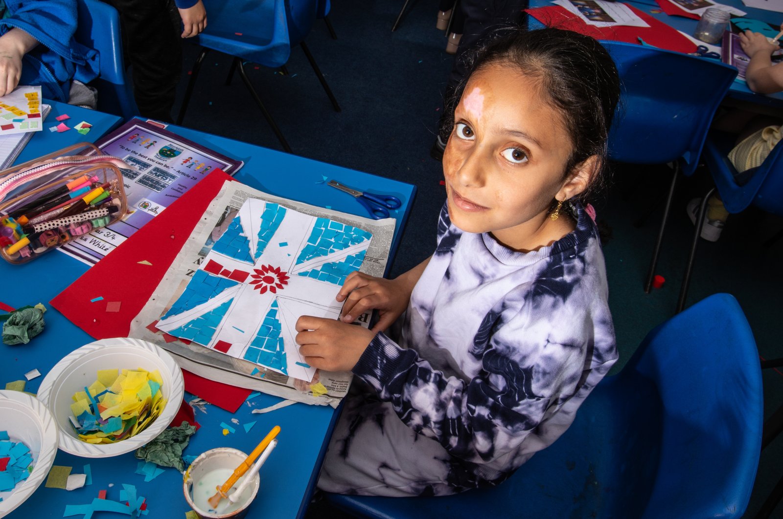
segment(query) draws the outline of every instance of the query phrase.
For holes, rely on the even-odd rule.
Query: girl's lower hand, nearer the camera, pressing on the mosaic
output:
[[[327,371],[352,370],[375,337],[375,332],[355,324],[306,315],[299,317],[296,330],[305,362]]]

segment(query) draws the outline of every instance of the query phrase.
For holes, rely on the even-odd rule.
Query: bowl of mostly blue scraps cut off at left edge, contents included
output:
[[[57,453],[57,424],[46,406],[20,391],[0,391],[0,517],[30,497]]]

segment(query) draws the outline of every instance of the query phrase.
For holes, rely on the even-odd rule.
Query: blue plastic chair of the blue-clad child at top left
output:
[[[78,0],[78,27],[75,39],[99,52],[99,77],[90,81],[98,89],[98,109],[126,119],[139,114],[133,91],[125,81],[122,59],[120,15],[99,0]]]

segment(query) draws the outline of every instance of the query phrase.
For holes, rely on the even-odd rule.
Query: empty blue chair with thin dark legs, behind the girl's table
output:
[[[207,0],[204,5],[208,13],[207,28],[197,37],[201,53],[193,64],[177,124],[182,124],[201,62],[210,49],[234,57],[226,84],[230,84],[233,73],[238,70],[283,149],[289,153],[290,145],[253,88],[243,62],[258,63],[271,68],[284,67],[290,56],[290,49],[299,45],[327,92],[332,106],[337,112],[340,111],[337,99],[334,98],[304,41],[318,14],[317,0]],[[284,70],[284,73],[287,72]]]

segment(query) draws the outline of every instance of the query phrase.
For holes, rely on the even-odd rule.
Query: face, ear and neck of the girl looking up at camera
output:
[[[547,217],[552,200],[578,195],[590,178],[579,170],[564,180],[571,152],[562,117],[536,80],[499,64],[474,73],[443,155],[449,217],[463,231],[491,232],[511,249],[561,238],[574,224]]]

